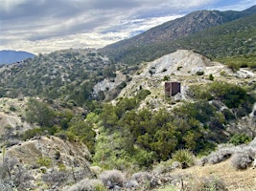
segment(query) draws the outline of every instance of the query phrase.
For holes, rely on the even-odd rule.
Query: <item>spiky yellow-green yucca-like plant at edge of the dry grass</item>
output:
[[[181,168],[187,168],[194,165],[195,156],[190,150],[181,149],[175,151],[172,155],[172,160],[180,162]]]

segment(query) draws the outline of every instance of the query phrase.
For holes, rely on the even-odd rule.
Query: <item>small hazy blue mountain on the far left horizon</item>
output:
[[[35,54],[22,52],[22,51],[0,51],[0,65],[2,64],[12,64],[14,62],[22,61],[27,58],[34,57]]]

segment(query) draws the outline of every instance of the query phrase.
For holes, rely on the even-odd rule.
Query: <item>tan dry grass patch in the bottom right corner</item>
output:
[[[216,176],[225,182],[229,191],[256,190],[256,169],[235,170],[231,166],[230,159],[202,167],[193,166],[184,170],[176,169],[174,174],[192,174],[198,178]]]

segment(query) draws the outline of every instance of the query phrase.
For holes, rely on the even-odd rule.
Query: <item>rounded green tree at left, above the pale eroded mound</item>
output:
[[[30,98],[26,108],[26,119],[39,126],[51,127],[54,124],[55,112],[46,103]]]

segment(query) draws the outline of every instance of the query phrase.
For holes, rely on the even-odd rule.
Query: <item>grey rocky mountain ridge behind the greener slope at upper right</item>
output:
[[[196,44],[198,44],[197,41],[200,42],[201,40],[198,38],[197,41],[195,41],[193,34],[214,29],[232,21],[245,19],[255,13],[256,6],[244,11],[194,11],[184,17],[154,27],[147,32],[105,46],[101,51],[113,57],[116,61],[135,64],[141,61],[151,61],[166,53],[173,53],[178,49],[198,50],[196,46],[193,46],[193,43],[196,42]],[[235,23],[234,25],[238,26],[238,31],[229,31],[230,35],[233,35],[232,33],[234,32],[241,32],[239,25],[243,25],[244,30],[244,27],[246,27],[243,23],[244,21],[241,20],[240,23]],[[254,26],[253,23],[252,26]],[[230,26],[226,25],[226,27],[228,28]],[[236,27],[233,26],[233,28]],[[225,33],[228,32],[228,29],[221,30],[225,31]],[[213,33],[215,36],[221,34],[221,32]],[[203,35],[199,36],[204,39]],[[182,39],[184,38],[186,38],[187,41],[193,42],[190,44],[192,46],[186,47],[186,44],[180,44],[183,42]],[[207,40],[205,43],[207,45]],[[218,47],[213,48],[218,49]]]

